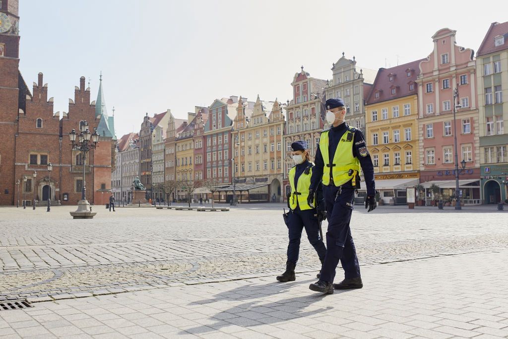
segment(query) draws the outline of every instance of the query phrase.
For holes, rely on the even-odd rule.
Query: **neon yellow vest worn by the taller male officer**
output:
[[[334,186],[341,186],[351,179],[355,179],[355,175],[360,172],[360,161],[358,158],[353,157],[353,142],[355,140],[355,133],[346,131],[340,138],[340,141],[335,149],[333,162],[330,163],[329,156],[329,131],[321,133],[319,141],[319,148],[321,156],[323,157],[323,184],[330,184],[330,169],[332,169],[333,184]],[[348,134],[352,134],[348,136]],[[350,141],[347,141],[350,140]],[[353,172],[350,172],[352,170]]]

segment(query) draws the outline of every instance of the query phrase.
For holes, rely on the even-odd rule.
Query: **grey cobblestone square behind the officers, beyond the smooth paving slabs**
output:
[[[229,212],[117,208],[73,220],[75,207],[0,208],[0,300],[44,301],[279,274],[283,205]],[[353,236],[364,266],[506,248],[506,212],[357,206]],[[503,222],[504,220],[504,222]],[[326,222],[324,223],[326,229]],[[302,239],[298,272],[319,269]],[[273,279],[273,278],[270,278]]]

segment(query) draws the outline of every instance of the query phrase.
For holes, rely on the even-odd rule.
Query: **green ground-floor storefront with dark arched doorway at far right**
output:
[[[508,165],[481,166],[482,199],[497,204],[508,199]]]

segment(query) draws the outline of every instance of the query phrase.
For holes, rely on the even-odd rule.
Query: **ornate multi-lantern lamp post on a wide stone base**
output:
[[[88,129],[88,123],[82,121],[79,126],[80,133],[76,133],[76,130],[72,130],[69,133],[71,139],[71,146],[73,150],[81,152],[81,159],[83,162],[83,187],[81,189],[81,200],[78,202],[78,209],[75,212],[71,212],[74,219],[90,219],[96,214],[96,212],[88,211],[90,204],[86,200],[86,155],[91,149],[96,149],[97,142],[99,141],[99,133],[94,131],[90,132]],[[76,141],[78,138],[78,141]]]

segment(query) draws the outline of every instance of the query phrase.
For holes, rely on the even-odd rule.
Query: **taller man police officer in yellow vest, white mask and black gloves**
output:
[[[321,133],[310,188],[314,190],[323,180],[328,218],[327,252],[320,280],[310,284],[309,289],[331,294],[334,288],[363,287],[350,229],[355,190],[360,187],[360,166],[367,186],[365,208],[368,208],[368,212],[376,208],[376,201],[374,168],[363,134],[347,126],[342,99],[327,100],[326,109],[326,119],[331,127]],[[333,284],[339,260],[344,269],[345,279],[339,284]]]

